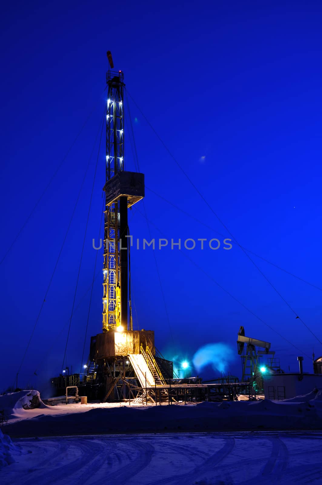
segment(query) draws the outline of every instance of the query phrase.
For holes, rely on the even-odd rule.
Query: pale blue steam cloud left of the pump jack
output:
[[[193,356],[193,365],[197,372],[211,364],[215,371],[226,371],[228,362],[234,360],[235,354],[225,343],[208,343]]]

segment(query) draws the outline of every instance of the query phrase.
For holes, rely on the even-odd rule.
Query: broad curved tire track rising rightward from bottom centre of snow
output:
[[[181,484],[186,485],[194,484],[197,479],[202,478],[205,474],[214,470],[216,465],[220,463],[226,456],[228,456],[235,446],[235,438],[229,437],[225,439],[225,444],[220,450],[212,454],[200,465],[196,466],[194,469],[187,473],[181,475],[175,475],[172,477],[166,477],[158,481],[153,481],[148,485],[163,485],[163,484]],[[184,480],[185,482],[182,482]]]

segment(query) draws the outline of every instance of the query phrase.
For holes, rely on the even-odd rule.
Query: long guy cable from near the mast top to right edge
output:
[[[129,94],[129,92],[128,92]],[[266,281],[270,284],[270,286],[273,288],[273,290],[278,294],[278,296],[284,301],[284,303],[290,308],[290,310],[294,313],[295,315],[295,318],[298,318],[300,320],[300,322],[303,323],[303,325],[307,328],[307,330],[313,335],[313,337],[315,339],[318,340],[318,342],[322,345],[322,341],[315,335],[315,333],[309,328],[309,326],[302,320],[301,317],[298,316],[297,312],[290,306],[290,304],[287,302],[287,300],[281,295],[281,293],[275,288],[275,286],[273,285],[273,283],[267,278],[266,275],[264,275],[264,273],[259,269],[258,265],[255,263],[255,261],[249,256],[249,254],[246,253],[246,251],[244,250],[244,248],[241,246],[241,244],[237,241],[237,239],[233,236],[233,234],[230,232],[230,230],[228,229],[227,226],[225,226],[224,222],[220,219],[220,217],[217,215],[217,213],[213,210],[213,208],[210,206],[209,202],[205,199],[205,197],[201,194],[201,192],[197,189],[197,187],[195,186],[195,184],[193,183],[193,181],[191,180],[191,178],[188,176],[188,174],[183,170],[183,168],[181,167],[180,163],[177,161],[177,159],[174,157],[174,155],[172,155],[171,151],[169,150],[169,148],[165,145],[165,143],[163,142],[163,140],[161,139],[161,137],[159,136],[159,134],[157,133],[157,131],[153,128],[153,126],[151,125],[151,123],[148,121],[148,119],[146,118],[145,114],[142,112],[142,110],[139,108],[139,106],[137,105],[137,103],[134,101],[134,99],[131,97],[131,95],[129,94],[129,97],[132,99],[133,103],[135,104],[135,106],[137,107],[137,109],[140,111],[140,113],[142,114],[142,116],[145,118],[145,121],[147,122],[147,124],[150,126],[150,128],[153,130],[153,132],[156,134],[156,136],[159,138],[161,144],[164,146],[164,148],[166,149],[166,151],[169,153],[169,155],[171,156],[171,158],[176,162],[177,166],[179,167],[179,169],[181,170],[181,172],[183,173],[183,175],[189,180],[189,182],[191,183],[191,185],[193,186],[194,190],[197,192],[197,194],[200,195],[200,197],[202,198],[202,200],[205,202],[205,204],[209,207],[209,209],[211,210],[211,212],[215,215],[215,217],[218,219],[218,221],[222,224],[222,226],[225,227],[226,231],[230,234],[230,236],[234,239],[234,241],[236,242],[236,244],[242,249],[243,253],[246,255],[246,257],[253,263],[253,265],[255,266],[255,268],[258,270],[258,272],[266,279]]]

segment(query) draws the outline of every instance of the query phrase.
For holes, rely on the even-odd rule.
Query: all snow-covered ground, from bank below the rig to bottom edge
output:
[[[0,433],[1,485],[322,485],[321,389],[283,402],[28,409],[36,398],[0,396],[13,438]]]

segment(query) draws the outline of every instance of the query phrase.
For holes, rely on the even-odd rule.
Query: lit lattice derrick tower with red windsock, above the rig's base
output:
[[[144,175],[124,170],[124,74],[107,57],[103,332],[128,330],[128,208],[144,197]]]

